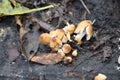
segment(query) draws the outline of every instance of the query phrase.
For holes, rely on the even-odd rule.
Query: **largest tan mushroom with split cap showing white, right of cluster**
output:
[[[82,40],[82,38],[86,35],[86,39],[90,40],[90,38],[93,35],[93,30],[92,30],[92,21],[90,20],[84,20],[81,21],[76,30],[74,31],[74,33],[77,33],[77,35],[75,36],[75,38],[79,38],[78,41]],[[76,39],[75,39],[76,40]],[[77,41],[77,40],[76,40]]]

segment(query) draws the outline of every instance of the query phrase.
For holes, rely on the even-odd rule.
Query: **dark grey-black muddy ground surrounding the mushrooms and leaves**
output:
[[[85,19],[96,19],[93,25],[94,36],[90,41],[84,40],[81,46],[72,44],[78,49],[79,54],[71,64],[64,65],[62,62],[54,65],[36,64],[28,62],[21,55],[19,27],[14,16],[2,17],[0,19],[0,80],[93,80],[98,73],[105,74],[107,80],[120,80],[120,71],[117,70],[119,66],[117,59],[120,55],[118,48],[120,46],[120,1],[84,0],[91,14],[86,13],[79,0],[42,1],[38,1],[40,3],[35,5],[32,4],[32,0],[31,3],[24,1],[21,3],[24,5],[26,3],[27,7],[59,4],[59,7],[33,13],[39,20],[52,25],[53,28],[64,27],[65,21],[77,25]],[[46,16],[47,11],[52,15]],[[48,31],[41,28],[39,34],[42,32]],[[50,52],[50,49],[39,44],[38,53],[45,52]],[[14,55],[18,57],[13,59],[14,57],[11,58],[9,53],[15,53]]]

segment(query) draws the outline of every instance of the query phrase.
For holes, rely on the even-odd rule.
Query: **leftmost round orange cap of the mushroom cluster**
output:
[[[50,43],[50,35],[48,33],[43,33],[39,37],[40,43],[49,44]]]

